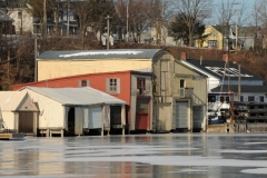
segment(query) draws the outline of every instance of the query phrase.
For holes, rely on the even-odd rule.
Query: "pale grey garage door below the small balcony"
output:
[[[176,102],[176,128],[188,128],[188,102]]]

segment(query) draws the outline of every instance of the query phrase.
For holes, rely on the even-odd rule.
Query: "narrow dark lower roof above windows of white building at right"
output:
[[[220,86],[211,89],[211,92],[220,92]],[[238,86],[230,86],[234,92],[238,92]],[[228,86],[222,86],[221,92],[228,92]],[[267,92],[267,86],[241,86],[241,92]]]

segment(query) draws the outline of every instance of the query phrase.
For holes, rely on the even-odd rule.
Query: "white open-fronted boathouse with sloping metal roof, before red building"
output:
[[[41,134],[83,135],[90,129],[109,130],[110,106],[121,107],[120,125],[126,123],[126,102],[90,87],[83,88],[38,88],[26,87],[37,103],[38,129]],[[123,130],[122,130],[123,131]]]

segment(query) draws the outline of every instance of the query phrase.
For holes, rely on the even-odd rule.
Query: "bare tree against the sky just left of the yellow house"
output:
[[[192,36],[196,22],[202,22],[211,12],[211,0],[176,0],[178,13],[186,14],[184,20],[189,31],[189,46],[192,46]]]

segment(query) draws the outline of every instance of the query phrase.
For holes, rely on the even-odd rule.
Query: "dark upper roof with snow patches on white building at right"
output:
[[[200,60],[196,59],[187,59],[182,60],[184,63],[195,67],[197,70],[212,76],[217,79],[222,79],[224,73],[226,80],[228,76],[230,76],[231,80],[238,80],[238,65],[229,62],[229,75],[228,71],[225,72],[226,62],[222,60],[202,60],[200,65]],[[250,71],[241,68],[241,80],[264,80],[264,78],[258,77]]]

